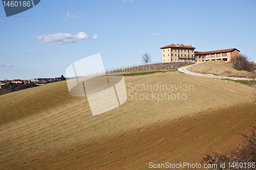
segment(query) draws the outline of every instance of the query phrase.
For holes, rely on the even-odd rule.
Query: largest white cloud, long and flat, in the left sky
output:
[[[93,37],[88,36],[86,33],[79,32],[77,35],[56,33],[51,35],[40,35],[36,37],[39,43],[54,43],[54,44],[65,44],[72,43],[83,39],[97,39],[98,36],[95,34]]]

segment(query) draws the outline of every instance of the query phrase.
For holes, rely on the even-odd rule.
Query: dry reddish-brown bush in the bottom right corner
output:
[[[203,158],[201,163],[206,164],[217,164],[220,165],[220,163],[225,163],[225,169],[255,169],[255,167],[248,168],[245,166],[241,167],[231,167],[229,168],[228,163],[236,164],[236,163],[243,163],[243,165],[246,163],[253,163],[255,164],[256,161],[256,126],[253,127],[252,133],[250,136],[246,134],[239,134],[243,137],[245,145],[243,147],[239,147],[236,150],[231,151],[231,156],[223,155],[221,152],[214,153],[214,156],[206,155],[205,158]],[[220,166],[218,166],[215,169],[223,169]]]

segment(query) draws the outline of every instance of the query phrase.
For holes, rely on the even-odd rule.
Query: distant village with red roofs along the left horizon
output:
[[[15,79],[15,80],[3,80],[0,81],[0,89],[2,88],[2,86],[6,85],[6,84],[11,84],[11,83],[15,83],[15,84],[29,84],[29,83],[50,83],[50,82],[58,82],[58,81],[62,81],[62,80],[66,80],[65,77],[56,77],[56,78],[36,78],[36,79],[32,79],[32,80],[21,80],[21,79]]]

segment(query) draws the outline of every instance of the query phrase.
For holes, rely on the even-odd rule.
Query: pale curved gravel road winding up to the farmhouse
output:
[[[196,63],[196,64],[199,64],[199,63]],[[178,68],[178,70],[181,71],[181,72],[184,72],[186,74],[189,74],[189,75],[203,76],[203,77],[216,78],[216,79],[250,80],[250,81],[252,80],[252,79],[239,78],[239,77],[226,77],[226,76],[215,76],[215,75],[211,75],[211,74],[201,74],[201,73],[192,72],[192,71],[188,70],[189,68],[194,67],[196,64],[180,67],[180,68]]]

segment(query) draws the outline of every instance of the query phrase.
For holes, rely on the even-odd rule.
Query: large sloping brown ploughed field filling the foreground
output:
[[[134,97],[180,92],[187,98],[127,96],[120,107],[92,116],[87,98],[71,96],[66,81],[1,95],[1,168],[147,169],[149,162],[198,162],[211,151],[236,148],[237,132],[255,121],[254,89],[240,83],[178,71],[124,80]],[[157,83],[194,90],[141,91]]]

